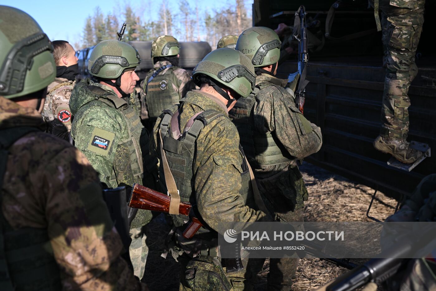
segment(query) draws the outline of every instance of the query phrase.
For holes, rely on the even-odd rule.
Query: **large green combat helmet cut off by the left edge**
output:
[[[37,22],[0,5],[0,96],[24,96],[48,86],[56,75],[53,46]]]

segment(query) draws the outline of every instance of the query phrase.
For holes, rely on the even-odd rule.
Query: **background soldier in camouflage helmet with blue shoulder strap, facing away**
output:
[[[180,45],[176,38],[161,35],[151,44],[151,69],[141,82],[141,118],[147,121],[147,128],[162,110],[178,104],[186,92],[195,88],[191,73],[179,66]]]

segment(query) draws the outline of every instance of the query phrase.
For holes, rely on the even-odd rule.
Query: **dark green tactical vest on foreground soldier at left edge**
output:
[[[0,130],[0,191],[9,147],[37,128]],[[0,192],[0,208],[1,208]],[[14,230],[0,211],[0,290],[61,290],[58,264],[47,229],[26,227]]]

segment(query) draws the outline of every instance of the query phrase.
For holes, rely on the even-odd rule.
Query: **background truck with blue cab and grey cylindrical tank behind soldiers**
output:
[[[134,46],[142,59],[141,64],[136,69],[136,73],[140,77],[140,80],[146,77],[147,72],[153,68],[151,60],[151,43],[134,41],[128,42]],[[180,60],[179,65],[187,70],[194,69],[205,55],[212,51],[211,46],[207,42],[180,42]],[[79,79],[88,78],[91,76],[88,72],[88,60],[91,55],[94,46],[81,49],[76,52],[79,65]],[[139,85],[139,82],[138,82]]]

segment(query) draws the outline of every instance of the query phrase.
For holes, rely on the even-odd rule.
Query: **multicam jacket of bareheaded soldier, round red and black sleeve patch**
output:
[[[68,140],[71,131],[72,114],[69,107],[71,92],[75,81],[65,78],[55,78],[47,87],[42,116],[50,125],[50,133],[61,139]]]

